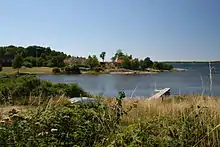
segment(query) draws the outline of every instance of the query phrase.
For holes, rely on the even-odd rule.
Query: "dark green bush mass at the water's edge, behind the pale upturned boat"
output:
[[[52,96],[65,95],[67,97],[87,96],[76,84],[52,84],[41,81],[35,76],[20,76],[0,79],[0,103],[10,103],[24,100],[29,96],[40,96],[42,101]]]

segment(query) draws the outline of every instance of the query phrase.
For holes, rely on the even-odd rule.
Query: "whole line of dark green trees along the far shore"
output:
[[[40,47],[40,46],[28,46],[28,47],[16,47],[16,46],[6,46],[0,47],[0,64],[2,66],[12,66],[15,69],[25,67],[58,67],[63,68],[66,73],[79,73],[79,67],[87,67],[90,70],[97,70],[100,68],[106,68],[106,64],[109,62],[105,61],[106,52],[100,53],[100,58],[102,62],[99,62],[96,55],[90,55],[86,58],[86,61],[83,63],[73,62],[66,64],[65,59],[76,58],[66,55],[63,52],[51,50],[49,47]],[[4,60],[11,59],[11,62],[3,62]],[[115,68],[124,68],[130,70],[147,70],[149,68],[157,70],[171,70],[172,65],[162,63],[162,62],[153,62],[150,57],[144,59],[133,58],[132,55],[125,54],[122,50],[117,50],[114,56],[111,58]],[[104,66],[103,66],[104,63]],[[54,72],[60,72],[59,70],[54,69]],[[0,68],[1,70],[1,68]],[[74,70],[73,72],[71,72]]]

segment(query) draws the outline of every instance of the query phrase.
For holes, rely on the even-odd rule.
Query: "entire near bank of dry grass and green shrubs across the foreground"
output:
[[[220,146],[220,100],[200,96],[160,100],[104,99],[70,104],[60,97],[9,116],[0,143],[32,146]],[[7,109],[7,111],[5,110]],[[5,111],[3,111],[5,110]],[[117,121],[119,118],[119,121]]]

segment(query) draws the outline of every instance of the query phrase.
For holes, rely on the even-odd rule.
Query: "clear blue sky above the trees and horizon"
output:
[[[220,0],[1,0],[0,46],[220,60]]]

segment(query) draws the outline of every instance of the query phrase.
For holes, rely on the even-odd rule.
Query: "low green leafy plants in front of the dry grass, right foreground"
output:
[[[122,126],[102,146],[218,146],[219,116],[208,119],[211,109],[189,108],[184,115],[156,115]]]

